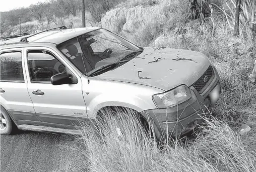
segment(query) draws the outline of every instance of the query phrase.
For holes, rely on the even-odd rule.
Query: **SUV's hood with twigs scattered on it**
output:
[[[209,59],[199,52],[145,48],[131,61],[94,78],[142,84],[167,91],[181,84],[191,86],[209,65]]]

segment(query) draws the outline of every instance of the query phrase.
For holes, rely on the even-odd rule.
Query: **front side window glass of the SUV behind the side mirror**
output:
[[[65,65],[48,51],[30,50],[27,57],[31,82],[50,82],[53,75],[66,72]]]

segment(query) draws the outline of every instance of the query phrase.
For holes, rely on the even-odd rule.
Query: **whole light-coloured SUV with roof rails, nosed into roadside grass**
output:
[[[79,134],[79,120],[119,107],[153,123],[157,137],[183,135],[221,91],[204,54],[142,48],[102,28],[63,26],[3,39],[2,134],[16,126]]]

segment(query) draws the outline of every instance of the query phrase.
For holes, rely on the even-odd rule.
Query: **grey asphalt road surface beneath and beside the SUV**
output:
[[[20,131],[1,135],[1,172],[88,171],[87,158],[70,135]]]

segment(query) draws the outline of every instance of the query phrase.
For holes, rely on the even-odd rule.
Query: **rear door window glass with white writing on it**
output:
[[[21,52],[2,53],[1,81],[24,81]]]

